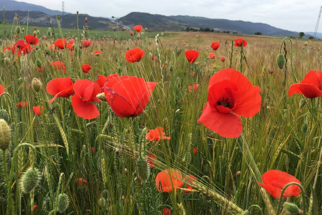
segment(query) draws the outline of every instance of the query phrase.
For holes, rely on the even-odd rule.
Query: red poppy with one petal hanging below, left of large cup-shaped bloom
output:
[[[83,79],[74,83],[75,95],[71,97],[71,106],[77,116],[84,119],[94,119],[99,116],[99,110],[91,102],[101,102],[96,95],[101,92],[99,85],[93,81]]]

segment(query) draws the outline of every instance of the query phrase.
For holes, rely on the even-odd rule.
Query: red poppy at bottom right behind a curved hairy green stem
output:
[[[301,184],[294,176],[279,170],[270,170],[262,175],[263,183],[257,182],[275,199],[279,199],[285,185],[291,182]],[[301,189],[297,185],[290,185],[286,188],[283,198],[299,196]]]

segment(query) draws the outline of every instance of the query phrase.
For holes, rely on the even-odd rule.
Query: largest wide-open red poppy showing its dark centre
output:
[[[203,123],[220,136],[236,138],[242,133],[239,116],[252,117],[260,111],[261,97],[242,73],[222,69],[209,80],[208,102],[198,123]]]

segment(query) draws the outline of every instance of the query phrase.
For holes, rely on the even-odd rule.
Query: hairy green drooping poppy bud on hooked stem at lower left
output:
[[[31,167],[24,172],[20,186],[23,193],[30,193],[39,183],[41,173],[37,168]]]

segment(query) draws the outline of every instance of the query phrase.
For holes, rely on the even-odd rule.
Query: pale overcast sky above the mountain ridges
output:
[[[62,1],[16,0],[62,10]],[[130,12],[191,15],[261,22],[291,31],[313,32],[321,0],[64,0],[65,11],[103,17]],[[322,33],[322,21],[318,28]]]

